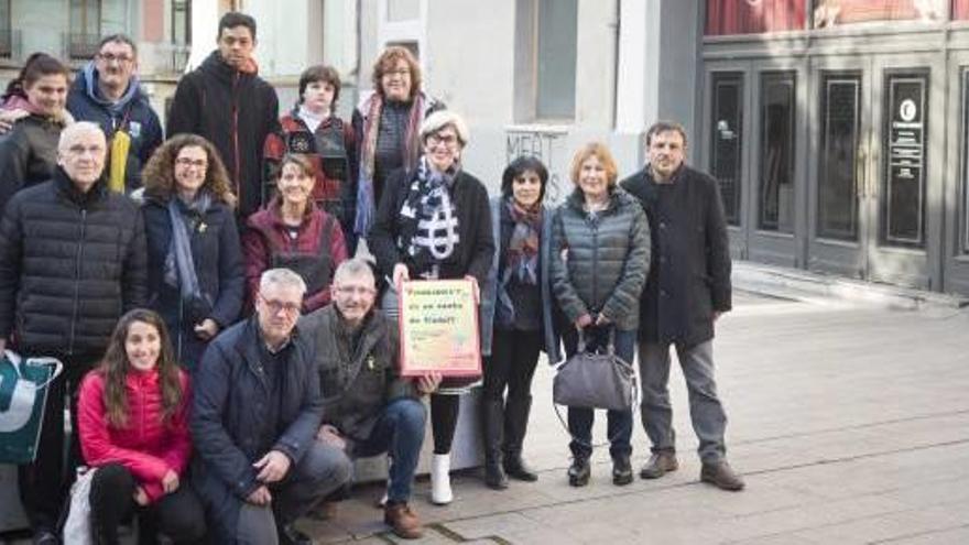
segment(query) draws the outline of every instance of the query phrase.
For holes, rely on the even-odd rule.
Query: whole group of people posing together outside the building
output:
[[[95,543],[311,543],[293,522],[333,505],[357,457],[388,454],[384,521],[422,535],[410,508],[429,397],[432,491],[453,501],[460,395],[482,388],[484,481],[535,481],[523,458],[532,380],[580,346],[614,350],[642,380],[653,454],[677,469],[667,392],[673,345],[700,439],[701,480],[740,490],[711,339],[730,310],[716,182],[684,164],[675,123],[647,132],[649,163],[618,182],[602,144],[575,154],[575,190],[544,204],[534,157],[489,198],[462,167],[462,118],[421,89],[392,46],[349,123],[340,79],[306,69],[277,119],[258,76],[255,21],[230,12],[217,50],[178,83],[167,140],[137,77],[137,47],[105,37],[70,83],[32,55],[0,106],[0,351],[48,356],[37,456],[19,472],[34,543],[58,543],[75,468],[95,468]],[[374,262],[357,258],[366,240]],[[364,252],[360,252],[361,254]],[[483,377],[400,374],[405,281],[468,279]],[[65,449],[65,400],[72,434]],[[590,478],[594,410],[568,407],[568,482]],[[612,480],[633,480],[629,411],[608,413]],[[67,459],[64,455],[67,455]]]

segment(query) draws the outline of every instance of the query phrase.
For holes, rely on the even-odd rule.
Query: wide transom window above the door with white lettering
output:
[[[954,0],[955,4],[961,0]],[[812,28],[879,21],[941,21],[945,0],[814,0]]]

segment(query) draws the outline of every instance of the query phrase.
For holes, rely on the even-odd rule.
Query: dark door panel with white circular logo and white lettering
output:
[[[881,198],[881,242],[925,246],[925,137],[928,120],[928,77],[925,74],[885,76],[884,168]]]

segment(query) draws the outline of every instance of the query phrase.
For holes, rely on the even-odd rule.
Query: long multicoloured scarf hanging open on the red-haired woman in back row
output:
[[[377,216],[377,203],[373,189],[374,156],[377,135],[380,132],[380,115],[383,110],[383,96],[374,92],[364,98],[358,107],[366,113],[363,119],[363,137],[361,139],[360,167],[357,176],[357,217],[353,220],[353,232],[361,238],[367,237],[373,218]],[[424,121],[424,95],[418,92],[411,102],[407,117],[407,133],[404,135],[404,170],[411,171],[417,163],[421,153],[421,123]]]

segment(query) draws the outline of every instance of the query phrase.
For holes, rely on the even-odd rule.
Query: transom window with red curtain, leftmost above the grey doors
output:
[[[804,0],[707,0],[708,36],[803,30]]]

